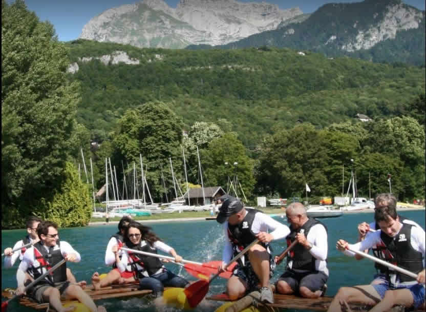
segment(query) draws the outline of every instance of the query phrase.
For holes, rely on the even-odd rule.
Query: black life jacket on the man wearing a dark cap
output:
[[[253,240],[257,239],[251,231],[251,225],[253,224],[255,215],[262,212],[257,209],[247,209],[246,211],[247,214],[240,223],[234,225],[228,223],[228,237],[232,244],[234,256],[238,255],[245,247],[250,245]],[[270,253],[269,243],[259,244],[264,246],[268,253]],[[242,258],[237,261],[240,265],[244,266],[244,263],[248,261],[248,254],[245,254]]]

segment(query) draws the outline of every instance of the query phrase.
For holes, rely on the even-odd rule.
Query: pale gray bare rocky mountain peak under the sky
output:
[[[80,38],[136,47],[184,48],[191,44],[224,45],[300,15],[268,3],[235,0],[180,0],[177,8],[162,0],[143,0],[104,11],[82,29]]]

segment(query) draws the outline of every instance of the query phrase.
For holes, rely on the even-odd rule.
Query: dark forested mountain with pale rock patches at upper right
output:
[[[329,57],[424,64],[425,12],[400,0],[330,3],[293,19],[291,24],[282,23],[278,29],[221,47],[286,47],[323,52]]]

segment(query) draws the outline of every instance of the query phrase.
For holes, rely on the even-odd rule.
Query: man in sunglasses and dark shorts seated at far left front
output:
[[[25,272],[27,270],[30,270],[34,278],[37,278],[62,259],[71,262],[79,262],[81,259],[80,254],[69,243],[66,241],[59,242],[56,223],[42,221],[37,227],[37,234],[40,240],[27,249],[16,273],[18,283],[16,293],[18,295],[24,293]],[[47,275],[34,287],[28,289],[27,295],[39,303],[49,302],[50,306],[58,312],[72,311],[75,308],[74,306],[63,307],[61,295],[66,295],[70,299],[77,299],[86,305],[91,312],[105,311],[103,307],[98,309],[90,296],[79,285],[67,281],[66,263],[59,266],[51,275]]]

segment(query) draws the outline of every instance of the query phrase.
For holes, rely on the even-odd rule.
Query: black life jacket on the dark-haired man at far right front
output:
[[[402,223],[401,230],[395,237],[390,237],[381,232],[380,239],[388,251],[385,252],[385,261],[417,274],[422,271],[424,266],[421,252],[416,251],[411,245],[411,229],[413,226],[412,224]],[[415,281],[412,277],[396,273],[387,268],[389,280],[391,275],[399,275],[401,282]]]

